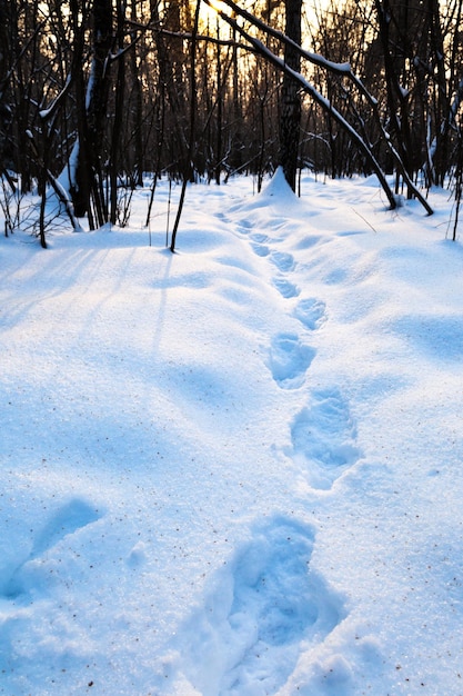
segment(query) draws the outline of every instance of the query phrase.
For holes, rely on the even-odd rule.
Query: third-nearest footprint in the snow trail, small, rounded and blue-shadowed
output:
[[[315,354],[296,334],[278,334],[270,347],[268,367],[282,389],[298,389],[304,384],[305,371]]]

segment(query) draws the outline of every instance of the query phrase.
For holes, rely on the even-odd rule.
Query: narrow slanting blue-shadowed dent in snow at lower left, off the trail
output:
[[[58,510],[36,537],[29,556],[21,560],[2,587],[1,594],[14,599],[30,589],[30,577],[34,575],[34,561],[56,546],[62,538],[100,518],[99,513],[87,501],[76,498]],[[33,580],[32,580],[33,581]]]

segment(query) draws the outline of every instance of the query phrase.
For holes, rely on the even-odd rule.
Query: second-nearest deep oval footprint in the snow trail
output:
[[[291,426],[290,457],[312,488],[329,489],[362,456],[349,404],[339,389],[314,391]]]

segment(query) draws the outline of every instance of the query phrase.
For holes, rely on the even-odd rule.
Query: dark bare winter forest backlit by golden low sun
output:
[[[463,0],[0,0],[4,233],[125,225],[149,172],[462,189]],[[395,179],[391,179],[395,175]],[[391,180],[394,180],[391,190]],[[145,185],[145,182],[144,182]],[[22,197],[36,192],[33,210]],[[151,213],[150,207],[148,216]],[[26,218],[26,222],[24,222]],[[457,216],[455,218],[456,231]]]

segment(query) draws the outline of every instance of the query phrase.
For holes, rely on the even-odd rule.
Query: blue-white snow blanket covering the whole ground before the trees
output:
[[[463,694],[447,192],[158,187],[0,240],[0,693]]]

